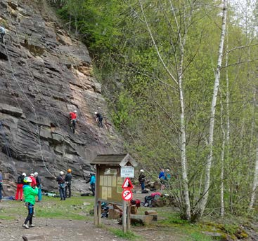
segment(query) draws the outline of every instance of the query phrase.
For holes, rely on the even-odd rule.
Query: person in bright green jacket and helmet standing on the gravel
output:
[[[23,185],[23,195],[25,198],[25,205],[28,209],[27,218],[25,219],[25,222],[22,224],[22,227],[24,228],[30,228],[34,227],[34,224],[32,224],[32,216],[34,213],[34,204],[35,204],[35,196],[38,195],[39,190],[37,186],[35,188],[32,188],[32,179],[30,177],[25,177],[23,179],[25,185]],[[27,226],[27,222],[30,221],[30,225]]]

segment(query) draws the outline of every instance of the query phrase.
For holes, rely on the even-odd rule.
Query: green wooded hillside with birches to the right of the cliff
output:
[[[254,214],[257,3],[56,0],[89,46],[116,127],[186,219]]]

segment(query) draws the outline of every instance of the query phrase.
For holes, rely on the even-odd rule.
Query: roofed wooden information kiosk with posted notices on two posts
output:
[[[101,223],[101,202],[122,205],[123,230],[130,227],[128,202],[122,199],[124,177],[134,177],[134,167],[138,165],[128,153],[98,155],[91,162],[96,167],[94,224]]]

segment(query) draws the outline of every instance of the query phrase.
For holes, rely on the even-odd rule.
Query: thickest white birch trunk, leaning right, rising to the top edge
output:
[[[217,95],[219,90],[219,78],[220,78],[220,69],[221,62],[223,56],[223,48],[224,48],[224,39],[226,33],[226,13],[227,13],[227,5],[228,1],[223,1],[223,11],[222,11],[222,26],[221,26],[221,37],[219,43],[219,55],[217,61],[217,69],[215,71],[215,79],[214,79],[214,89],[212,95],[212,106],[211,106],[211,114],[209,119],[209,139],[208,139],[208,147],[209,147],[209,155],[207,156],[207,163],[205,168],[205,184],[202,192],[202,198],[200,198],[200,202],[195,207],[194,214],[196,218],[202,216],[205,211],[205,207],[207,204],[207,199],[209,195],[209,184],[210,184],[210,170],[212,167],[212,157],[213,157],[213,134],[214,134],[214,121],[215,121],[215,113],[216,113],[216,103],[217,103]]]

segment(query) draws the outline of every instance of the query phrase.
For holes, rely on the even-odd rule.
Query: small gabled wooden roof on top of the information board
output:
[[[129,153],[122,154],[104,154],[98,155],[90,163],[91,165],[120,165],[120,167],[125,167],[130,164],[133,167],[136,167],[138,163],[132,158]]]

